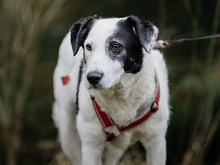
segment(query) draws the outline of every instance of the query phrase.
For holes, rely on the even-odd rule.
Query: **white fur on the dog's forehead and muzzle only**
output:
[[[104,77],[101,79],[100,84],[103,88],[110,88],[114,86],[120,79],[121,75],[124,73],[122,66],[119,62],[113,61],[105,55],[105,40],[108,36],[111,36],[112,32],[115,30],[115,23],[118,19],[104,19],[98,21],[94,27],[91,29],[84,45],[93,45],[92,51],[86,51],[86,60],[88,61],[85,75],[90,71],[99,70],[104,73]],[[97,31],[99,35],[97,35]],[[87,82],[87,87],[89,88],[89,83]]]

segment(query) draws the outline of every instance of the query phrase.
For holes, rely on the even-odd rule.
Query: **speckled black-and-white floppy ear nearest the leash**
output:
[[[158,29],[155,25],[153,25],[149,21],[143,21],[135,16],[129,16],[127,21],[132,26],[132,29],[139,38],[139,41],[146,52],[150,53],[152,49],[152,45],[154,44],[157,35]]]

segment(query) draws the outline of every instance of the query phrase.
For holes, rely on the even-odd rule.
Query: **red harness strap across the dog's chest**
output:
[[[114,121],[110,118],[110,116],[101,110],[101,107],[95,101],[95,97],[91,96],[91,100],[92,100],[94,109],[96,111],[96,114],[97,114],[100,122],[102,123],[102,125],[105,127],[105,129],[107,130],[108,128],[110,128],[112,126],[117,127],[118,132],[119,132],[117,135],[113,132],[106,131],[106,141],[112,141],[120,134],[120,132],[129,130],[129,129],[134,128],[137,125],[143,123],[153,113],[155,113],[159,109],[159,105],[158,105],[159,100],[160,100],[159,80],[157,78],[157,92],[156,92],[156,96],[155,96],[155,99],[154,99],[153,103],[151,104],[151,106],[148,106],[147,109],[143,111],[143,112],[146,112],[146,113],[138,114],[136,116],[135,120],[133,122],[131,122],[130,124],[126,125],[126,126],[121,126],[120,127],[117,124],[115,124]]]

